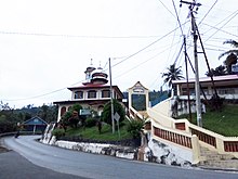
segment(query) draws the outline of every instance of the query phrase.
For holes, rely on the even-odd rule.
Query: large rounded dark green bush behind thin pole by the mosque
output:
[[[117,101],[114,100],[114,114],[118,113],[120,115],[119,122],[122,123],[124,120],[125,112],[122,105]],[[108,102],[104,106],[103,113],[102,113],[102,120],[111,125],[111,103]]]

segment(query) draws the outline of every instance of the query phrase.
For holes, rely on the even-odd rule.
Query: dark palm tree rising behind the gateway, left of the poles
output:
[[[170,67],[167,68],[168,72],[162,74],[162,78],[164,78],[163,82],[168,84],[169,87],[172,86],[172,80],[180,80],[184,79],[182,76],[182,69],[180,67],[175,67],[175,63],[170,65]]]

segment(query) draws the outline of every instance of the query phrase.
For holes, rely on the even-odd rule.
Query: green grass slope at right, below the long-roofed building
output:
[[[180,118],[188,118],[183,115]],[[197,124],[196,114],[193,114],[193,124]],[[202,114],[202,127],[225,137],[238,137],[238,105],[226,104],[221,112],[211,112],[209,108]]]

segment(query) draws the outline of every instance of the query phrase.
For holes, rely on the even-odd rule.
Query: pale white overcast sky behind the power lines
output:
[[[216,67],[230,49],[223,41],[238,37],[237,0],[197,2],[196,21]],[[194,63],[188,7],[174,4]],[[185,76],[175,9],[173,0],[0,0],[0,101],[22,107],[69,100],[67,87],[80,85],[91,59],[107,73],[111,59],[113,85],[121,91],[136,81],[159,90],[174,62]],[[207,71],[199,54],[200,77]]]

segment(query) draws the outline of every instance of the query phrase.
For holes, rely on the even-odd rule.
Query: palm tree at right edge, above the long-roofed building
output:
[[[223,42],[230,44],[232,47],[234,47],[235,49],[228,50],[224,53],[222,53],[219,59],[223,57],[224,55],[226,56],[226,60],[224,61],[224,64],[226,65],[227,68],[227,73],[232,74],[232,65],[237,63],[237,56],[238,56],[238,42],[235,40],[226,40]]]

